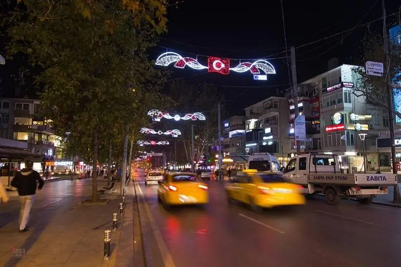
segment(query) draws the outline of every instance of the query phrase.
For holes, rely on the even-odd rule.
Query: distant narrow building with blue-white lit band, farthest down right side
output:
[[[223,153],[246,155],[245,116],[232,116],[223,122]]]

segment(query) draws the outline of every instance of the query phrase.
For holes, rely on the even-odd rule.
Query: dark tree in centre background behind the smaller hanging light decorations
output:
[[[183,94],[185,92],[185,94]],[[192,85],[183,81],[175,81],[169,87],[169,96],[177,103],[171,114],[201,112],[206,121],[179,121],[170,124],[170,127],[178,128],[182,135],[177,142],[182,144],[187,162],[198,162],[208,146],[217,140],[217,105],[221,96],[217,88],[211,84],[201,83]],[[193,152],[192,152],[192,125],[193,125]],[[193,156],[193,157],[192,157]]]

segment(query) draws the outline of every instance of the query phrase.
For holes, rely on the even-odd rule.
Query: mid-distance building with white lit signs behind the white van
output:
[[[280,163],[286,164],[291,153],[288,100],[283,97],[269,97],[246,107],[245,115],[246,152],[272,153]]]

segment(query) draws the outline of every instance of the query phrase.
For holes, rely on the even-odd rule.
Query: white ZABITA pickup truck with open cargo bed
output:
[[[345,174],[338,155],[328,154],[295,156],[287,164],[284,177],[302,185],[305,194],[323,193],[331,205],[338,205],[341,198],[355,198],[369,205],[374,196],[388,194],[388,186],[397,183],[395,174]]]

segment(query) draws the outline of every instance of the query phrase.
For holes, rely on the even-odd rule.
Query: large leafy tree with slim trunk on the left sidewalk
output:
[[[123,1],[123,6],[106,0],[73,2],[24,0],[13,14],[21,22],[8,31],[8,52],[26,53],[43,68],[36,81],[44,88],[45,111],[59,119],[60,134],[71,132],[69,149],[92,161],[96,202],[99,148],[109,147],[104,140],[121,137],[124,125],[137,127],[132,115],[143,114],[150,99],[160,99],[157,88],[148,90],[144,82],[160,77],[146,50],[164,27],[163,12],[146,5],[148,0]],[[135,2],[140,7],[124,5]]]

